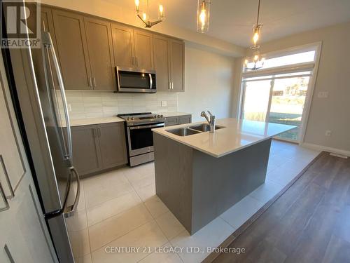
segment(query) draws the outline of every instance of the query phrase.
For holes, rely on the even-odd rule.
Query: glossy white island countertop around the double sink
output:
[[[231,154],[239,149],[244,149],[250,145],[284,133],[296,126],[289,126],[276,123],[265,123],[260,121],[246,121],[241,119],[218,119],[216,125],[225,126],[225,128],[216,130],[215,133],[197,133],[189,136],[179,136],[167,132],[176,128],[194,126],[195,124],[207,123],[198,122],[182,124],[177,126],[156,128],[154,133],[164,135],[170,139],[176,140],[193,147],[206,154],[216,158]]]

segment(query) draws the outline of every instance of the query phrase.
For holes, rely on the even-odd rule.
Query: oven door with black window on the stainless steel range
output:
[[[127,142],[130,156],[153,151],[153,128],[164,127],[164,123],[152,123],[127,127]]]

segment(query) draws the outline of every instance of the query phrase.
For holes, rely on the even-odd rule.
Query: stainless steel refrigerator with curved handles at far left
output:
[[[27,136],[34,180],[59,262],[74,262],[67,217],[73,217],[79,194],[79,175],[73,164],[69,111],[55,46],[48,32],[41,48],[10,50],[23,133]],[[70,219],[71,220],[71,219]]]

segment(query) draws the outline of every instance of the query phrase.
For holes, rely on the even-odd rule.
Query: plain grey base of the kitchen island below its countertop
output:
[[[192,235],[265,182],[271,137],[220,158],[153,133],[156,194]]]

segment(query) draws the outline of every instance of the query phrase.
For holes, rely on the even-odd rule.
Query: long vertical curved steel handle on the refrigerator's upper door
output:
[[[46,35],[45,40],[47,40],[49,43],[49,47],[50,47],[50,50],[52,53],[53,64],[55,65],[55,69],[56,69],[56,73],[57,73],[59,91],[61,93],[62,102],[63,102],[64,117],[66,119],[67,142],[68,142],[68,151],[69,151],[69,156],[67,156],[68,157],[67,159],[69,159],[72,163],[73,162],[73,147],[72,147],[72,143],[71,143],[71,123],[69,120],[68,107],[67,107],[67,103],[66,103],[66,93],[64,92],[64,83],[63,83],[63,79],[62,79],[62,74],[61,74],[61,71],[59,69],[57,55],[55,53],[55,48],[52,45],[52,39],[51,39],[50,33],[44,32],[43,34]]]

